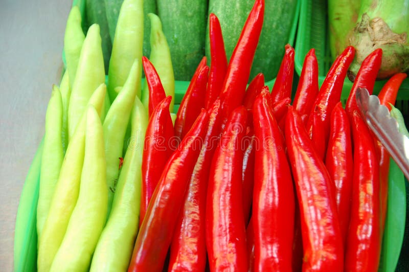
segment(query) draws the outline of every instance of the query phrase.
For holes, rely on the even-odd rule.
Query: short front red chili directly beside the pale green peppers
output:
[[[169,112],[171,100],[172,97],[168,96],[155,107],[145,133],[144,152],[142,155],[140,226],[145,217],[153,191],[173,151],[170,146],[170,140],[173,137],[173,125]]]

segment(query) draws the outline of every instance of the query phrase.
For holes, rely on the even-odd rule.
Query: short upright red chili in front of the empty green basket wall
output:
[[[305,56],[296,96],[292,103],[294,109],[301,116],[310,114],[318,90],[318,62],[315,56],[315,49],[312,48]]]

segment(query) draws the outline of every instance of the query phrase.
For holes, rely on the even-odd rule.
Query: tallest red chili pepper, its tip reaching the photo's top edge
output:
[[[221,88],[222,126],[226,124],[232,111],[243,102],[254,54],[263,27],[263,19],[264,0],[256,0],[230,58]]]

